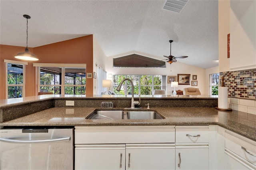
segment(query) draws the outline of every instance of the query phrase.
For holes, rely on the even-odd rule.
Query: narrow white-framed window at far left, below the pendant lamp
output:
[[[6,65],[6,98],[24,96],[25,65],[27,62],[4,60]]]

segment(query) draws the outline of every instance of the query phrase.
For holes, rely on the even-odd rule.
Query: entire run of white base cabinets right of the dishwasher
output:
[[[255,170],[256,142],[221,127],[75,127],[75,170]]]

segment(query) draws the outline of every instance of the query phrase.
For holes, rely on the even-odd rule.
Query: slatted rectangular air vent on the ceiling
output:
[[[163,9],[180,13],[188,0],[166,0]]]

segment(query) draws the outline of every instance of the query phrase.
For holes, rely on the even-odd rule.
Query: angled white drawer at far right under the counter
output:
[[[239,134],[225,132],[225,148],[256,165],[256,142]]]

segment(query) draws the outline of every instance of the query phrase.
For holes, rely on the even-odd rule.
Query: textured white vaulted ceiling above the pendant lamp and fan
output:
[[[164,0],[1,0],[0,43],[28,46],[94,34],[107,56],[140,51],[202,68],[218,63],[218,0],[189,0],[182,12],[162,9]],[[70,49],[72,50],[72,49]],[[175,64],[175,63],[174,63]]]

